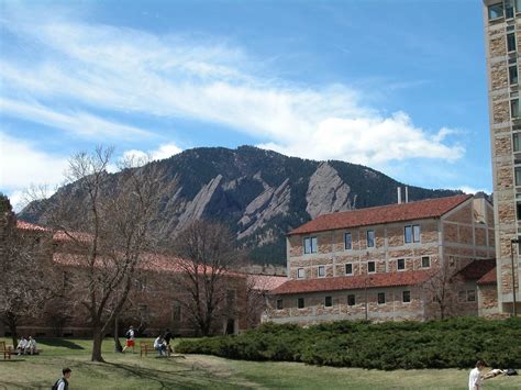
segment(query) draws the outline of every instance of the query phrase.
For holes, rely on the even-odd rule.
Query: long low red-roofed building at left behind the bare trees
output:
[[[0,238],[5,231],[0,220]],[[37,263],[44,267],[54,267],[58,287],[66,294],[47,300],[36,316],[26,316],[18,325],[19,335],[43,336],[90,336],[89,313],[81,304],[85,290],[77,283],[85,272],[85,254],[78,246],[71,245],[64,234],[38,225],[18,221],[16,226],[27,239],[37,239],[40,250]],[[0,253],[8,242],[0,239]],[[128,302],[119,316],[119,333],[124,334],[129,325],[138,330],[141,335],[157,335],[170,328],[176,335],[198,335],[192,311],[189,286],[190,276],[181,260],[171,256],[144,254],[134,275],[134,285]],[[48,268],[46,268],[48,269]],[[193,275],[191,275],[193,277]],[[222,296],[214,308],[212,334],[237,334],[247,328],[247,277],[243,274],[225,272],[215,282],[214,294]],[[110,309],[110,308],[109,308]],[[2,319],[0,319],[2,320]],[[115,324],[114,324],[115,325]],[[107,336],[113,330],[109,330]],[[9,327],[0,321],[0,336],[10,336]]]

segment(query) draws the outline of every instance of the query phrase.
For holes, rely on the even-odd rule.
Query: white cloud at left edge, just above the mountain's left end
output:
[[[0,189],[18,205],[31,186],[55,186],[64,181],[68,158],[54,156],[27,142],[0,132]]]

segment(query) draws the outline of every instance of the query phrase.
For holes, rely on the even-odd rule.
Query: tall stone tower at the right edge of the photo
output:
[[[521,114],[519,53],[521,1],[485,0],[490,144],[494,174],[498,303],[502,313],[521,310],[519,239],[521,233]],[[516,286],[514,286],[516,283]]]

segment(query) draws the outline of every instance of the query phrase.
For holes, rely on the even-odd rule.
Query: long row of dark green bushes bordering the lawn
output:
[[[184,354],[245,360],[377,369],[468,368],[478,358],[498,368],[521,367],[521,317],[488,321],[339,321],[307,328],[263,324],[239,336],[181,341]]]

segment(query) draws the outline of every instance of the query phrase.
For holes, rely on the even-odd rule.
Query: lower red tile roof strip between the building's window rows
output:
[[[303,292],[359,290],[396,286],[414,286],[424,282],[432,275],[429,270],[385,272],[357,276],[341,276],[307,280],[288,280],[271,291],[271,294],[296,294]]]

